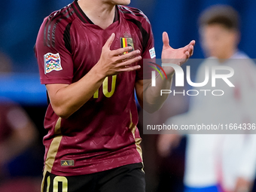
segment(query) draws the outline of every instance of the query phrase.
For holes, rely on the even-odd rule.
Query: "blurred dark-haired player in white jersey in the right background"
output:
[[[199,23],[202,47],[209,59],[201,64],[197,82],[204,81],[206,66],[230,66],[235,72],[230,79],[235,87],[225,87],[224,82],[217,81],[215,89],[224,90],[224,96],[194,96],[189,111],[169,118],[166,124],[255,123],[256,69],[248,56],[237,48],[237,12],[229,6],[213,6],[203,12]],[[212,87],[206,85],[203,89],[212,90]],[[169,154],[177,137],[160,135],[158,151],[162,156]],[[185,191],[249,191],[255,176],[255,147],[254,134],[188,135]]]

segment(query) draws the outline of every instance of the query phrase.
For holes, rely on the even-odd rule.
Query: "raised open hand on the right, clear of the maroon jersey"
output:
[[[163,32],[163,50],[162,50],[162,62],[163,63],[173,63],[181,66],[187,61],[190,56],[194,53],[194,45],[196,41],[190,41],[185,47],[174,49],[169,45],[169,37],[167,32]],[[169,69],[169,70],[168,70]],[[174,70],[168,68],[166,73],[168,75],[172,74]]]

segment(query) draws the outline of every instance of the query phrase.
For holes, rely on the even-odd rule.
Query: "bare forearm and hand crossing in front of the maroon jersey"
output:
[[[75,111],[78,111],[96,93],[105,77],[140,69],[140,66],[130,66],[132,63],[142,59],[142,56],[139,56],[140,51],[133,50],[130,53],[126,53],[133,49],[130,46],[110,50],[113,41],[114,33],[102,47],[99,61],[79,81],[73,84],[47,85],[50,103],[59,117],[67,118],[75,113]]]

